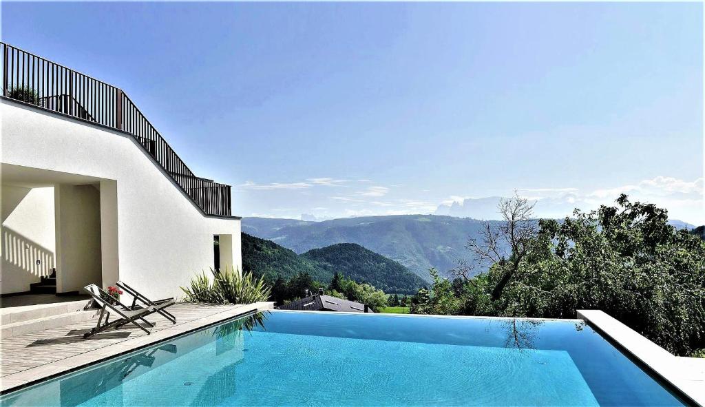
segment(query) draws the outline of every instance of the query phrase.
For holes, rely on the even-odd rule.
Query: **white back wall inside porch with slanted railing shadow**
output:
[[[54,188],[2,186],[1,194],[0,293],[28,291],[54,267]]]

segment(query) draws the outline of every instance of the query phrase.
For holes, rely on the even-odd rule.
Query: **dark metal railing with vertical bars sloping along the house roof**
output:
[[[2,95],[133,135],[205,214],[231,216],[231,187],[195,176],[118,87],[0,42]]]

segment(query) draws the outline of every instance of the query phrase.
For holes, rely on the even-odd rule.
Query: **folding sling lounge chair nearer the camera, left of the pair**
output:
[[[121,303],[119,300],[114,300],[114,304],[104,300],[103,298],[110,298],[109,294],[103,291],[102,288],[95,284],[85,286],[84,289],[90,294],[95,303],[97,303],[100,307],[100,317],[98,318],[98,323],[89,332],[83,334],[84,338],[87,338],[99,332],[103,332],[104,330],[109,329],[111,327],[121,327],[124,324],[129,324],[130,322],[135,324],[136,327],[142,329],[142,331],[147,332],[147,335],[149,335],[149,330],[143,327],[142,325],[138,324],[137,320],[142,320],[149,327],[154,327],[154,324],[145,320],[145,317],[147,315],[157,312],[154,306],[149,305],[149,307],[145,308],[130,309],[128,306]],[[106,312],[107,315],[105,315]],[[120,315],[120,318],[114,320],[113,322],[109,322],[111,312],[114,312],[116,315]],[[105,315],[105,322],[103,322],[103,315]]]

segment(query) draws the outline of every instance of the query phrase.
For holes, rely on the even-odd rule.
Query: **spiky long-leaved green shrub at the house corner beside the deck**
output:
[[[213,279],[202,272],[196,274],[189,287],[181,287],[188,303],[256,303],[269,299],[271,287],[264,284],[264,278],[257,279],[252,272],[240,274],[238,269],[226,267],[223,270],[211,269]]]

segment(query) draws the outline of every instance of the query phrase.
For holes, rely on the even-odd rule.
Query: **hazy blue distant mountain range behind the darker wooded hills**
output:
[[[669,223],[679,229],[694,228],[678,220]],[[477,219],[440,215],[389,215],[326,221],[246,217],[242,229],[299,254],[337,243],[357,243],[399,262],[424,281],[430,281],[428,271],[431,267],[448,275],[448,270],[457,267],[459,260],[472,262],[465,244],[469,238],[480,237],[482,225],[483,221]],[[484,268],[476,265],[476,272],[482,271]]]

